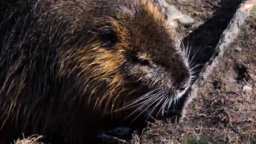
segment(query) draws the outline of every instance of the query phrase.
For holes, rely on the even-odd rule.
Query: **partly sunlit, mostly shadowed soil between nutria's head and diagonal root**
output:
[[[240,3],[241,0],[189,0],[182,3],[182,6],[177,6],[181,8],[180,10],[183,13],[193,17],[195,23],[200,23],[198,27],[180,26],[177,28],[177,32],[185,34],[183,38],[184,45],[191,47],[190,59],[194,57],[193,63],[201,64],[201,67],[197,68],[199,72],[203,64],[207,63],[212,57],[220,36],[228,26]],[[178,2],[175,4],[179,5]],[[193,15],[194,13],[199,13],[199,15]]]

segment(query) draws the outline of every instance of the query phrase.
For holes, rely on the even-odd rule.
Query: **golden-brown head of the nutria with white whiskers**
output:
[[[81,1],[77,8],[80,13],[75,9],[71,12],[76,15],[68,28],[84,29],[80,35],[71,33],[83,43],[64,50],[59,73],[75,77],[83,91],[76,97],[88,98],[94,109],[113,112],[141,103],[137,106],[159,105],[154,108],[163,112],[184,94],[191,79],[178,40],[149,2],[98,2],[102,4],[96,7],[90,1]],[[83,15],[83,8],[90,5],[90,13]],[[62,21],[70,19],[69,15],[61,16]]]

